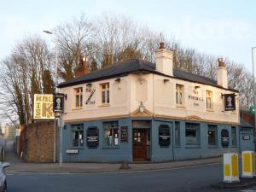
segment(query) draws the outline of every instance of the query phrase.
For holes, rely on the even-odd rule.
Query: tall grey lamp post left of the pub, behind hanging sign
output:
[[[49,32],[47,30],[44,30],[43,32],[49,34],[49,35],[55,35],[55,94],[57,93],[57,71],[58,71],[58,38],[57,35],[53,32]],[[55,131],[54,131],[54,154],[53,154],[53,161],[55,163],[56,161],[56,117],[55,117]]]

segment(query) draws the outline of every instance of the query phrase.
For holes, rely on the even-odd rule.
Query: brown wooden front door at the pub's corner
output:
[[[133,160],[147,160],[147,130],[133,130]]]

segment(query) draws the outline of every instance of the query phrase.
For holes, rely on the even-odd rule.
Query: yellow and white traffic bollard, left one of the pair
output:
[[[224,179],[225,183],[237,183],[239,180],[238,154],[224,154]]]

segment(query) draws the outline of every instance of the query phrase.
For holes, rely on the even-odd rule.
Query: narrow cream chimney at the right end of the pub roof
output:
[[[227,68],[225,66],[225,62],[223,58],[218,58],[218,85],[222,86],[223,88],[228,88],[228,73]]]

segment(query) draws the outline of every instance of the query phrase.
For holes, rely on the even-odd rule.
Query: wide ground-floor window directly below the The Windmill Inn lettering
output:
[[[186,123],[186,145],[200,145],[200,124]]]

